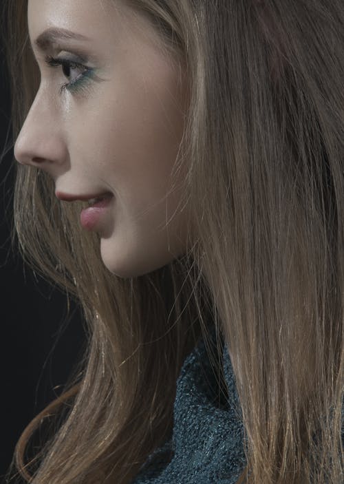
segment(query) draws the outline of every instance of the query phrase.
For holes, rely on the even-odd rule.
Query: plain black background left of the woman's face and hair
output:
[[[65,296],[25,268],[10,246],[14,172],[10,94],[0,45],[0,481],[24,428],[63,385],[80,357],[80,313]],[[7,154],[6,151],[8,151]],[[4,156],[1,156],[3,155]]]

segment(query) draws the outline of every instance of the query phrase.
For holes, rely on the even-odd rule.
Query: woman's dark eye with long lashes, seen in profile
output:
[[[62,67],[62,72],[69,80],[69,83],[65,83],[61,86],[61,92],[63,90],[76,91],[81,87],[85,87],[85,81],[89,80],[93,70],[86,65],[72,61],[70,59],[54,58],[47,56],[45,63],[50,67]]]

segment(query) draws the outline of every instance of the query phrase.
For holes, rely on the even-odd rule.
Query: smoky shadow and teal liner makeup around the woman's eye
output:
[[[61,85],[59,90],[60,94],[63,94],[65,90],[72,94],[85,92],[89,87],[89,82],[95,78],[94,69],[92,67],[87,67],[74,59],[47,55],[45,56],[45,63],[49,67],[62,67],[63,75],[67,78],[72,76],[73,72],[79,72],[78,76],[72,78],[69,83]]]

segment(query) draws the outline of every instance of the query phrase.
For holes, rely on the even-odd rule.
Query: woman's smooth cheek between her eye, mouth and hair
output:
[[[109,83],[80,125],[78,138],[87,140],[86,159],[98,165],[99,176],[127,201],[157,202],[171,188],[183,131],[173,81],[162,80],[150,89],[146,82],[145,94],[142,83],[129,79]],[[89,124],[90,119],[97,121]]]

